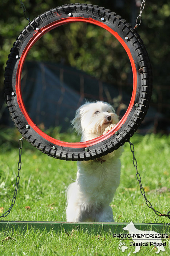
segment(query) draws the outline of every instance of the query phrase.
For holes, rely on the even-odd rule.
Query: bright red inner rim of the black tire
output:
[[[130,59],[130,63],[131,63],[131,67],[132,67],[132,71],[133,71],[133,92],[132,92],[132,97],[131,97],[131,101],[130,104],[126,110],[126,113],[124,114],[124,116],[121,118],[121,120],[119,121],[118,124],[116,124],[116,126],[111,129],[109,132],[107,132],[105,135],[102,135],[98,138],[95,138],[93,140],[89,140],[86,142],[76,142],[76,143],[69,143],[69,142],[63,142],[57,139],[52,138],[51,136],[47,135],[46,133],[44,133],[43,131],[41,131],[35,123],[33,123],[32,119],[29,117],[28,112],[25,108],[24,102],[23,102],[23,98],[21,95],[21,73],[22,73],[22,69],[23,69],[23,65],[24,65],[24,61],[26,59],[26,56],[29,52],[29,50],[32,48],[32,46],[36,43],[36,41],[38,39],[40,39],[40,37],[42,37],[44,34],[46,34],[48,31],[59,27],[61,25],[64,24],[68,24],[68,23],[72,23],[72,22],[87,22],[87,23],[91,23],[93,25],[97,25],[102,27],[103,29],[106,29],[108,32],[110,32],[112,35],[114,35],[114,37],[116,37],[116,39],[118,39],[118,41],[120,42],[120,44],[123,46],[123,48],[126,50],[127,55],[129,56]],[[124,42],[124,40],[118,35],[117,32],[115,32],[114,30],[112,30],[110,27],[108,27],[106,24],[99,22],[97,20],[94,20],[92,18],[83,18],[83,17],[69,17],[69,18],[63,18],[60,20],[56,20],[50,24],[48,24],[47,26],[44,26],[43,28],[39,29],[38,31],[35,30],[35,34],[33,34],[33,37],[29,40],[28,44],[26,45],[25,49],[23,50],[22,55],[20,56],[20,60],[19,60],[19,64],[18,64],[18,68],[17,68],[17,74],[16,74],[16,95],[17,95],[17,102],[19,104],[19,108],[21,110],[21,112],[24,114],[25,119],[27,120],[28,124],[35,130],[36,133],[38,133],[41,137],[43,137],[44,139],[48,140],[49,142],[51,142],[52,144],[56,144],[62,147],[70,147],[70,148],[84,148],[84,147],[90,147],[92,145],[95,145],[96,143],[102,142],[106,139],[108,139],[111,135],[113,135],[116,131],[118,131],[118,129],[122,126],[122,124],[124,124],[124,122],[126,121],[131,109],[133,108],[134,105],[134,101],[135,101],[135,95],[136,95],[136,90],[137,90],[137,70],[135,67],[135,63],[134,63],[134,59],[131,55],[130,49],[128,48],[126,42]]]

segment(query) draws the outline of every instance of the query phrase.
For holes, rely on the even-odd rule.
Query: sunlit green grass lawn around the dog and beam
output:
[[[60,139],[75,141],[75,135],[60,135]],[[0,131],[0,208],[5,212],[11,205],[17,174],[17,130]],[[170,211],[170,192],[160,193],[162,187],[169,188],[170,136],[134,135],[138,171],[142,178],[146,196],[153,207],[167,213]],[[146,206],[132,163],[129,144],[124,145],[121,158],[122,169],[119,188],[111,203],[115,222],[168,223]],[[76,178],[76,162],[60,161],[42,154],[23,141],[22,168],[15,206],[5,220],[16,221],[66,221],[65,192]],[[158,189],[158,190],[157,190]],[[30,207],[29,210],[28,206]],[[25,208],[26,207],[26,208]],[[3,219],[4,220],[4,219]],[[7,239],[10,237],[11,239]],[[6,239],[5,239],[6,238]],[[124,253],[118,249],[119,241],[111,234],[99,236],[88,231],[66,233],[64,230],[5,230],[0,233],[0,255],[132,255],[133,246]],[[128,246],[128,241],[126,241]],[[138,255],[155,255],[155,249],[143,246]],[[159,255],[169,255],[168,246]]]

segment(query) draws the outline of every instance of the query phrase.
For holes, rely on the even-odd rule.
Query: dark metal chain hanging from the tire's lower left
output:
[[[7,217],[7,215],[10,213],[10,211],[12,210],[12,207],[14,206],[15,204],[15,200],[16,200],[16,195],[17,195],[17,190],[18,190],[18,185],[19,185],[19,180],[20,180],[20,170],[21,170],[21,154],[22,154],[22,147],[23,147],[23,139],[24,138],[21,138],[19,139],[18,141],[18,148],[19,148],[19,162],[18,162],[18,174],[16,176],[16,182],[15,182],[15,191],[14,191],[14,194],[13,194],[13,198],[12,198],[12,203],[11,203],[11,206],[9,207],[8,211],[6,211],[3,215],[0,216],[0,218],[5,218]],[[20,142],[21,142],[21,146],[20,146]]]

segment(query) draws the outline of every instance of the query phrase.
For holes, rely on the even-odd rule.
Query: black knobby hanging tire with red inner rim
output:
[[[71,22],[94,24],[114,35],[129,56],[134,80],[129,107],[119,123],[105,135],[81,143],[62,142],[42,132],[29,117],[20,90],[22,68],[33,44],[48,31]],[[5,68],[6,102],[19,132],[43,153],[70,161],[100,158],[127,142],[145,117],[150,103],[151,87],[151,65],[137,31],[114,12],[91,4],[63,5],[33,19],[13,44]]]

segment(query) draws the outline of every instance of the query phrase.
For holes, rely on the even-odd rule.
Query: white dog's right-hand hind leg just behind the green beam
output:
[[[105,206],[101,211],[95,214],[95,221],[97,222],[114,222],[113,212],[110,206]]]

